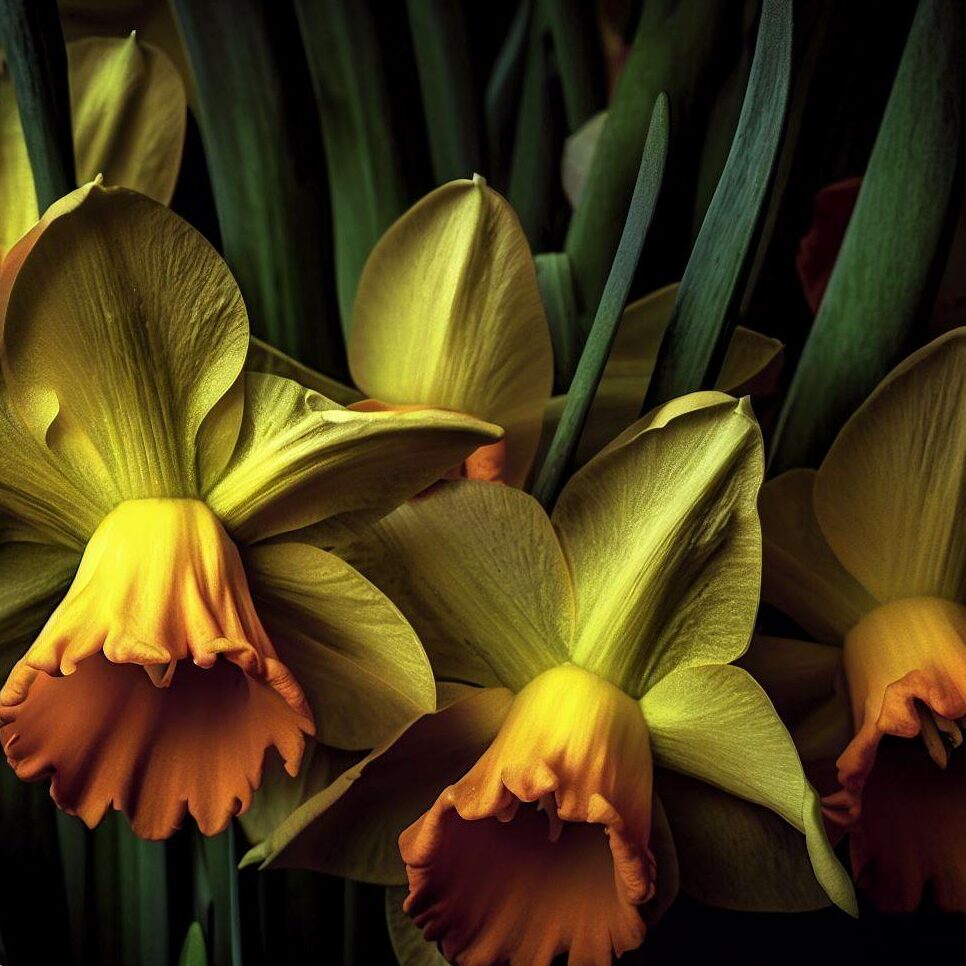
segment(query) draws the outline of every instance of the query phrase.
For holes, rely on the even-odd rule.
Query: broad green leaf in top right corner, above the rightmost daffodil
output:
[[[958,212],[966,8],[921,0],[858,202],[773,440],[770,470],[817,465],[902,358]]]

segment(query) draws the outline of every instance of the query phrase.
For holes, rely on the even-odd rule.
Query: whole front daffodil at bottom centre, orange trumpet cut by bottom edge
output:
[[[552,517],[453,481],[377,524],[344,552],[419,631],[441,710],[341,775],[320,761],[303,781],[322,790],[247,861],[408,880],[405,910],[469,966],[608,963],[679,879],[852,909],[791,738],[728,663],[757,609],[761,474],[747,402],[699,393],[628,429]]]

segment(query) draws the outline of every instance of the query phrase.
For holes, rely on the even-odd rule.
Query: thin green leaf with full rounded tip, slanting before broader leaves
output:
[[[617,257],[607,278],[594,326],[580,356],[547,458],[540,467],[537,482],[533,487],[533,495],[548,509],[557,496],[563,472],[577,449],[584,421],[617,335],[617,326],[627,304],[637,261],[641,257],[644,239],[647,237],[660,194],[664,164],[667,160],[668,137],[668,102],[667,97],[662,94],[658,97],[651,115],[637,184],[634,186],[624,231],[621,233]]]

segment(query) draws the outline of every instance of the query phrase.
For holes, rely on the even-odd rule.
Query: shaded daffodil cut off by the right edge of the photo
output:
[[[761,510],[764,596],[822,643],[762,639],[753,665],[773,692],[828,698],[801,747],[842,752],[826,812],[851,828],[856,881],[883,910],[928,884],[966,911],[966,329],[896,368],[818,471],[770,482]],[[854,728],[838,744],[834,658]]]

